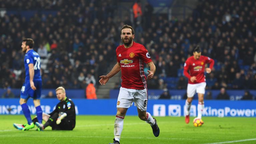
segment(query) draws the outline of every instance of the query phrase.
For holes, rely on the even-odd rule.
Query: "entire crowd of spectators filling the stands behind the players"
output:
[[[41,56],[43,88],[86,89],[98,85],[116,63],[120,29],[132,24],[116,18],[117,0],[0,0],[0,7],[16,10],[55,10],[0,17],[0,87],[21,88],[24,64],[21,40],[32,38]],[[185,20],[152,14],[148,3],[141,25],[132,24],[135,41],[143,44],[156,65],[148,89],[186,89],[183,64],[196,45],[215,60],[206,75],[207,89],[256,89],[256,3],[248,1],[198,2],[197,13]],[[131,6],[132,8],[132,6]],[[151,10],[148,10],[151,9]],[[142,20],[143,20],[142,18]],[[139,27],[139,28],[138,28]],[[149,67],[145,65],[145,73]]]

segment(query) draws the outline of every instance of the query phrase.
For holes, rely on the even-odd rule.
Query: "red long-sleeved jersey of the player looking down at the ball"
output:
[[[198,60],[194,58],[194,56],[189,57],[185,64],[184,64],[184,75],[188,78],[188,83],[189,84],[197,84],[201,82],[205,82],[205,75],[204,75],[204,69],[205,69],[205,64],[210,63],[209,68],[212,69],[214,65],[214,60],[206,57],[206,56],[200,56]],[[188,70],[190,74],[188,73]],[[196,77],[195,82],[191,82],[190,78],[192,76]]]

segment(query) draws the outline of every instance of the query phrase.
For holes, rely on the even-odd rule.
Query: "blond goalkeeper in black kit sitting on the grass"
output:
[[[38,127],[38,131],[43,131],[47,126],[51,126],[52,130],[73,130],[76,124],[75,105],[71,99],[66,97],[65,89],[58,87],[56,89],[57,98],[60,102],[50,114],[43,113],[43,120],[46,123],[40,124],[35,117],[32,121]],[[24,125],[14,123],[13,126],[22,130]]]

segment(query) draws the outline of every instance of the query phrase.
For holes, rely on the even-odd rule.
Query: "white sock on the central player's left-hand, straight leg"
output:
[[[124,117],[116,115],[116,120],[114,125],[114,136],[116,141],[120,141],[123,126],[124,126]]]

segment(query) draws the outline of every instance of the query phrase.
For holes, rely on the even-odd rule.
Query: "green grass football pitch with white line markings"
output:
[[[156,117],[160,128],[154,137],[149,124],[137,116],[126,116],[121,144],[255,144],[256,118],[203,117],[204,125],[186,124],[184,117]],[[23,115],[0,115],[1,144],[108,144],[113,142],[115,116],[76,117],[73,131],[20,131],[13,123],[25,123]]]

